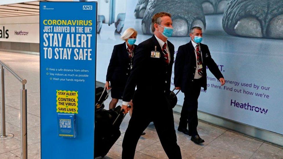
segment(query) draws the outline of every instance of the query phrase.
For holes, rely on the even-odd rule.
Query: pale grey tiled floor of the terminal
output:
[[[39,56],[0,52],[0,60],[12,67],[28,80],[28,158],[40,158],[40,110],[39,110]],[[6,88],[6,132],[10,139],[0,140],[0,159],[19,158],[20,156],[20,108],[19,89],[21,84],[10,73],[5,72]],[[109,105],[110,98],[105,102]],[[121,101],[118,103],[121,105]],[[130,116],[127,115],[121,124],[121,136],[110,149],[105,158],[121,158],[122,142]],[[177,130],[179,114],[174,114]],[[150,124],[137,144],[135,158],[167,158],[155,127]],[[198,132],[205,140],[203,144],[195,144],[180,132],[177,142],[183,158],[283,158],[282,147],[270,145],[268,142],[245,136],[218,126],[199,122]]]

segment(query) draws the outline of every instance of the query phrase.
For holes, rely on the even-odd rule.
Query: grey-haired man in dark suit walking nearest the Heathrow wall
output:
[[[201,87],[206,90],[206,66],[221,85],[225,84],[225,79],[211,58],[208,46],[200,43],[202,28],[193,27],[190,36],[191,41],[178,48],[174,68],[175,87],[185,95],[178,131],[192,136],[193,142],[202,143],[204,140],[197,133],[197,98]]]

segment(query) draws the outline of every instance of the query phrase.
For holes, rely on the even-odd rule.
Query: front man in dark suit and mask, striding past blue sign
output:
[[[171,15],[165,12],[155,14],[151,29],[154,35],[137,46],[133,69],[124,90],[124,113],[128,112],[128,102],[135,94],[132,117],[123,140],[122,158],[134,158],[141,133],[153,121],[168,158],[179,159],[182,158],[181,151],[168,100],[174,62],[174,45],[167,41],[173,32]],[[151,57],[152,52],[154,57]]]

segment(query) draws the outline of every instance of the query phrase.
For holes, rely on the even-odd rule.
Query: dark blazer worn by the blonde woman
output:
[[[106,81],[115,81],[115,83],[126,83],[130,76],[130,58],[126,49],[126,42],[115,45],[113,48],[110,63],[108,65]],[[134,57],[137,45],[134,45]],[[133,58],[134,58],[133,57]]]

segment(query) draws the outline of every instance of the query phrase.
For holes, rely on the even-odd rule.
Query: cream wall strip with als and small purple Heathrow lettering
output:
[[[39,54],[39,15],[0,17],[0,50]]]

